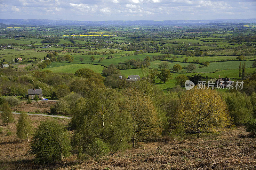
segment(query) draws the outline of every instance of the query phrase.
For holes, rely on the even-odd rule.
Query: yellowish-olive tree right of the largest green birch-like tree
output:
[[[132,146],[136,146],[138,141],[160,137],[163,131],[162,122],[149,97],[137,88],[126,89],[124,96],[124,112],[132,117]]]

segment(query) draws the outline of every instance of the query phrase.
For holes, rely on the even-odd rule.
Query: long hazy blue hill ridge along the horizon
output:
[[[256,23],[256,18],[252,19],[204,19],[204,20],[140,20],[140,21],[72,21],[72,20],[52,20],[52,19],[0,19],[3,24],[16,25],[202,25],[210,23]]]

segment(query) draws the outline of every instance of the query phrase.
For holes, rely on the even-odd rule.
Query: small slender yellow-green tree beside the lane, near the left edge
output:
[[[20,139],[28,139],[29,142],[29,136],[32,135],[33,127],[32,122],[28,117],[28,114],[21,113],[20,118],[18,119],[18,122],[16,124],[16,135]]]

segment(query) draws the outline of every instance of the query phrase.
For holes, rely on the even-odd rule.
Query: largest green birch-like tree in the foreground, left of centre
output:
[[[131,117],[120,112],[120,96],[113,89],[93,88],[73,110],[75,126],[72,145],[78,155],[100,156],[128,147]],[[122,105],[121,105],[122,106]]]

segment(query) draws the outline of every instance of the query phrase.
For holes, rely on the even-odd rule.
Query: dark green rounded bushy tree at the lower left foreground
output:
[[[36,162],[48,164],[68,157],[70,149],[68,132],[64,126],[47,120],[36,128],[28,153],[36,156]]]

